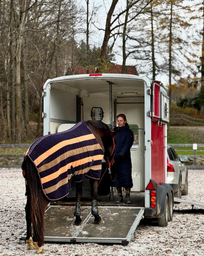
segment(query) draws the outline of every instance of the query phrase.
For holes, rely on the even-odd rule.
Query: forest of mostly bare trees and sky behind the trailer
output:
[[[48,78],[111,63],[164,78],[170,114],[204,119],[204,1],[0,0],[0,142],[42,136]]]

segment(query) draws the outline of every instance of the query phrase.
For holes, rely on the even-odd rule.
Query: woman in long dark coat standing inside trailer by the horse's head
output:
[[[130,201],[130,189],[133,187],[132,181],[132,163],[130,157],[130,148],[133,145],[134,134],[130,130],[127,123],[126,116],[119,114],[117,116],[118,127],[115,127],[113,131],[118,129],[116,135],[116,147],[115,147],[115,168],[117,168],[117,176],[113,182],[113,187],[116,187],[118,192],[118,198],[115,203],[120,204],[123,202],[122,187],[125,187],[126,203],[131,204]]]

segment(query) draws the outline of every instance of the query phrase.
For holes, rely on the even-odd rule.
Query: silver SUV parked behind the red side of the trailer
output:
[[[167,148],[167,183],[173,188],[175,197],[188,194],[188,170],[183,164],[187,156],[181,156],[181,160],[173,148]]]

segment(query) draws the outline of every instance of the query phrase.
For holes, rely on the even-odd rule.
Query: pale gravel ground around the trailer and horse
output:
[[[189,170],[189,195],[184,199],[204,202],[204,170]],[[25,183],[20,169],[0,169],[0,256],[34,255],[19,241],[26,229]],[[173,220],[167,227],[142,220],[127,246],[46,243],[49,255],[204,255],[204,208],[175,204]],[[120,226],[119,223],[116,225]]]

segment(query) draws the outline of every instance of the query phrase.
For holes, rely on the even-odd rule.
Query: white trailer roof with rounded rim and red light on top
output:
[[[144,82],[151,86],[151,80],[147,77],[127,75],[127,74],[102,74],[100,76],[72,75],[61,76],[49,79],[44,85],[49,83],[54,89],[67,91],[68,87],[74,88],[74,92],[79,90],[86,94],[109,93],[109,83],[112,83],[113,93],[117,96],[125,96],[131,93],[135,96],[144,96]]]

